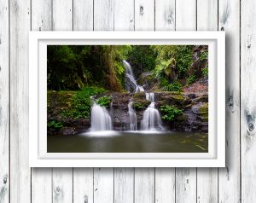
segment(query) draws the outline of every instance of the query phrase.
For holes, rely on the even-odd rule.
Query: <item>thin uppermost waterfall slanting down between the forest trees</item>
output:
[[[138,85],[136,79],[134,78],[134,74],[131,69],[130,63],[127,61],[123,61],[125,67],[125,89],[130,92],[143,92],[143,86]]]

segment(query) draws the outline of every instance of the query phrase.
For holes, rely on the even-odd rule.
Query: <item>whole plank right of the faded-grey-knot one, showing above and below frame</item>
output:
[[[176,1],[176,30],[196,30],[196,1]],[[176,202],[196,202],[196,169],[177,168]]]

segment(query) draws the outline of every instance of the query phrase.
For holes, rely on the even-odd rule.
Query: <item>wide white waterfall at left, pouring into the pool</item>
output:
[[[91,107],[90,131],[111,131],[112,119],[106,107],[93,103]]]

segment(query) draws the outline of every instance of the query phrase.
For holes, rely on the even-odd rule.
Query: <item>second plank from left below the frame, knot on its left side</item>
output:
[[[53,203],[73,202],[73,169],[54,168],[52,175]]]

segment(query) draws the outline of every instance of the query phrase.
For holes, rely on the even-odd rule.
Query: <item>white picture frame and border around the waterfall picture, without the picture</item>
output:
[[[47,44],[207,44],[208,153],[47,153]],[[224,167],[224,32],[30,32],[30,167]]]

